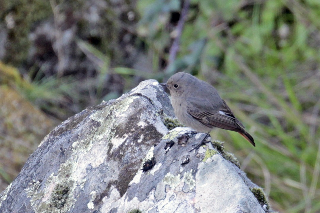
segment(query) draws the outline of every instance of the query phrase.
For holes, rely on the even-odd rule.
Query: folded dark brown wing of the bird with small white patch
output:
[[[204,102],[190,102],[187,112],[193,118],[209,127],[218,127],[236,132],[244,128],[224,101],[219,106],[212,106]]]

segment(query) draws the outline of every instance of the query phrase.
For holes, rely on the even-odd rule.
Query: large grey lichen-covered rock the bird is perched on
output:
[[[169,132],[173,120],[155,80],[87,108],[44,138],[0,194],[0,212],[269,212],[220,143],[188,152],[204,134]]]

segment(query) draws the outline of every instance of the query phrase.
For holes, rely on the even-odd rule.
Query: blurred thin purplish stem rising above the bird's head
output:
[[[181,10],[181,16],[178,21],[177,29],[176,29],[177,36],[175,37],[175,39],[172,43],[171,49],[169,51],[169,63],[168,64],[171,64],[176,59],[177,53],[179,51],[180,38],[181,38],[182,30],[184,27],[184,23],[187,18],[189,5],[190,5],[190,0],[185,0],[183,7],[182,7],[182,10]]]

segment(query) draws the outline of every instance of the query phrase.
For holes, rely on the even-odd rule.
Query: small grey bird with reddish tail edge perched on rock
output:
[[[160,85],[170,90],[174,113],[184,125],[207,135],[214,127],[235,131],[256,146],[218,91],[207,82],[178,72]]]

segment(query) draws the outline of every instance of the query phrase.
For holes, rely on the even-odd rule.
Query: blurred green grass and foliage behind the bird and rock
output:
[[[192,0],[177,37],[183,3],[119,1],[126,7],[106,9],[103,23],[113,29],[108,42],[75,39],[94,65],[93,74],[48,74],[36,65],[24,76],[27,85],[11,83],[63,120],[120,96],[140,80],[165,81],[174,72],[190,72],[218,89],[254,137],[256,148],[237,133],[217,129],[211,134],[226,141],[226,150],[265,188],[271,207],[320,212],[320,2]],[[170,61],[176,38],[179,51]]]

